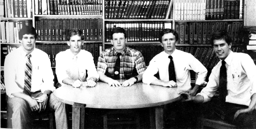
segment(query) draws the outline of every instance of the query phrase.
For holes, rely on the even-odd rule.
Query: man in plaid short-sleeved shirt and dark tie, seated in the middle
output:
[[[111,48],[102,51],[98,60],[100,80],[110,86],[131,86],[142,80],[146,67],[142,54],[128,46],[126,32],[117,27],[112,30]],[[126,79],[120,83],[119,79]]]

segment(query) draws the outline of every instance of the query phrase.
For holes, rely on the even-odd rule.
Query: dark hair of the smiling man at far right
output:
[[[211,44],[213,46],[213,40],[225,40],[228,45],[232,43],[232,37],[226,30],[219,30],[212,34]]]

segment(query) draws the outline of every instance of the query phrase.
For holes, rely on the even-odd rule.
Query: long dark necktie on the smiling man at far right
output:
[[[226,62],[222,60],[220,69],[220,80],[219,80],[219,93],[222,102],[226,101],[227,96],[227,69],[225,67]]]

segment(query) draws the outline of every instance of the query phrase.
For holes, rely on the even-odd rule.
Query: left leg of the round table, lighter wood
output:
[[[86,104],[74,103],[72,106],[72,129],[84,129]]]

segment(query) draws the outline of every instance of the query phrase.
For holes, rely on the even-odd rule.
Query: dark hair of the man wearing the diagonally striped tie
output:
[[[25,34],[34,35],[35,40],[37,39],[37,33],[36,33],[35,28],[33,26],[23,25],[22,29],[19,31],[19,40],[22,40],[23,35],[25,35]]]

